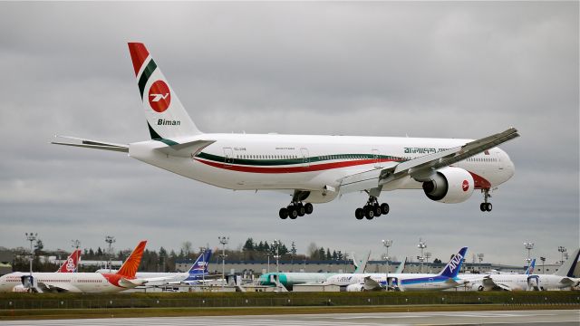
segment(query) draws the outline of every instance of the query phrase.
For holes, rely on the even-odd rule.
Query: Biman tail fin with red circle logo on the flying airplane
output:
[[[201,134],[175,91],[143,43],[129,43],[151,139],[175,145],[171,139]]]

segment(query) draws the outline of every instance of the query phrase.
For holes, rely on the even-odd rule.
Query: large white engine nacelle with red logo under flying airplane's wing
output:
[[[423,191],[430,200],[440,203],[462,203],[473,194],[475,182],[463,168],[441,168],[430,181],[423,182]]]

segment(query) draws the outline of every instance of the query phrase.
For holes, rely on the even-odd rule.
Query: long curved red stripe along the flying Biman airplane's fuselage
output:
[[[232,171],[238,172],[250,172],[250,173],[300,173],[300,172],[314,172],[314,171],[323,171],[327,169],[333,168],[348,168],[348,167],[355,167],[359,165],[365,164],[374,164],[376,163],[376,159],[357,159],[357,160],[348,160],[348,161],[341,161],[341,162],[332,162],[332,163],[322,163],[322,164],[312,164],[310,166],[300,166],[300,167],[274,167],[274,168],[266,168],[266,167],[250,167],[250,166],[237,166],[237,165],[228,165],[226,163],[218,163],[214,161],[208,161],[205,159],[195,158],[198,162],[207,164],[208,166],[214,168],[224,168]],[[382,162],[390,162],[389,159],[382,159]]]

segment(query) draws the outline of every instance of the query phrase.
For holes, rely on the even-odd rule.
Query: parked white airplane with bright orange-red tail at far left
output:
[[[0,292],[120,292],[146,283],[135,278],[147,241],[141,241],[117,273],[8,273]]]

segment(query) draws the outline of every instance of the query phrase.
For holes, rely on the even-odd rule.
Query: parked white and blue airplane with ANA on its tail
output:
[[[455,254],[445,268],[438,274],[432,273],[363,273],[336,274],[324,284],[339,285],[347,292],[384,290],[392,288],[397,291],[445,290],[459,286],[464,281],[458,279],[463,258],[468,248],[463,247]]]

